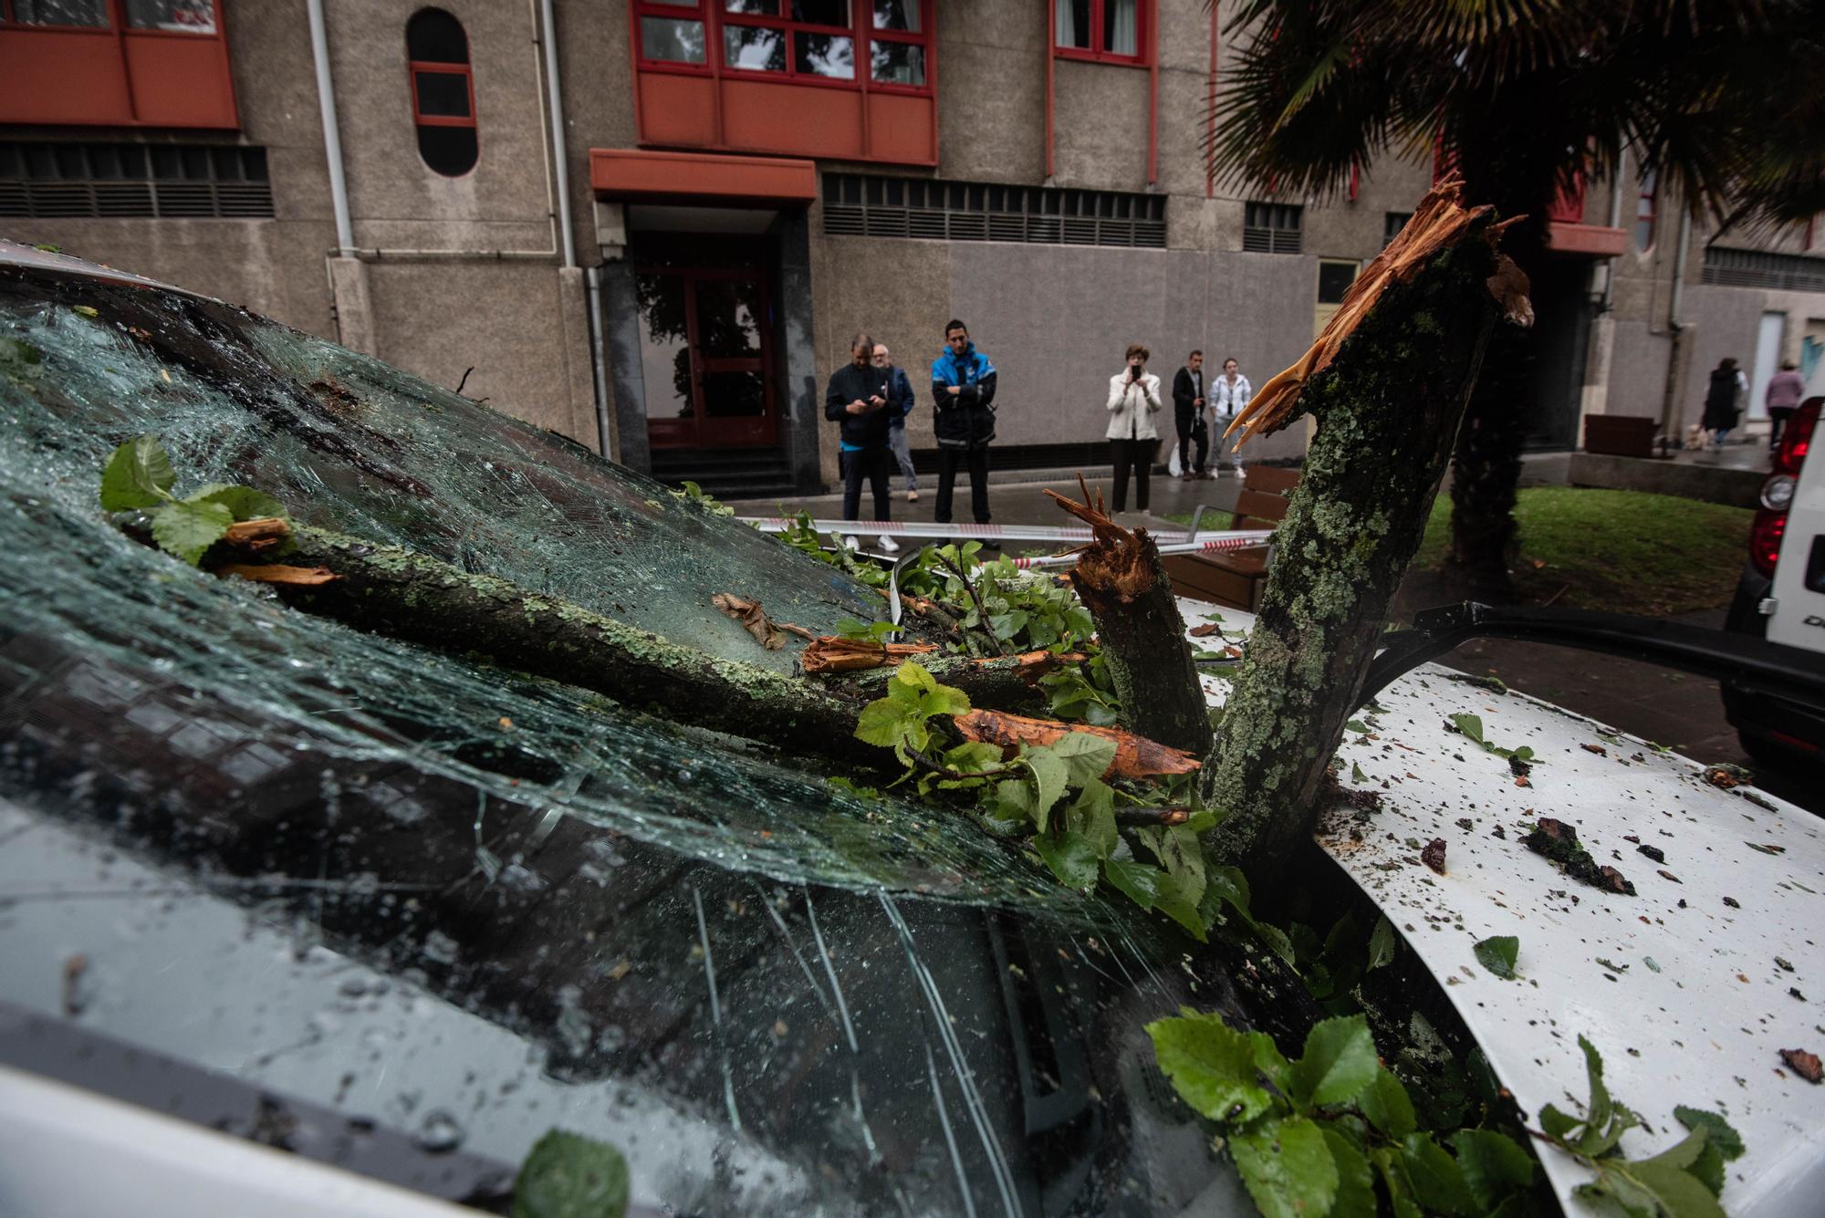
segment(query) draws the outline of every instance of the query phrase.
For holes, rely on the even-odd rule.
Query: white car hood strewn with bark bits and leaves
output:
[[[1210,605],[1184,600],[1181,611],[1199,622]],[[1225,609],[1223,625],[1234,633],[1252,618]],[[1228,682],[1204,686],[1221,704]],[[1820,821],[1750,786],[1716,788],[1695,760],[1526,695],[1453,680],[1436,664],[1389,686],[1380,704],[1383,713],[1358,717],[1374,731],[1347,731],[1338,757],[1343,784],[1378,791],[1383,810],[1367,824],[1338,810],[1319,844],[1445,988],[1528,1120],[1546,1103],[1582,1112],[1582,1034],[1602,1052],[1610,1090],[1650,1127],[1622,1138],[1630,1156],[1684,1136],[1677,1105],[1714,1109],[1747,1147],[1728,1165],[1723,1205],[1737,1218],[1818,1214],[1825,1087],[1798,1078],[1779,1050],[1825,1048]],[[1507,760],[1449,731],[1455,713],[1478,715],[1493,744],[1531,746],[1531,786],[1515,786]],[[1639,895],[1579,883],[1522,846],[1540,817],[1577,828],[1591,857]],[[1445,841],[1442,875],[1407,846],[1434,837]],[[1473,944],[1489,935],[1520,939],[1518,981],[1476,963]],[[1544,1145],[1540,1160],[1568,1213],[1588,1213],[1571,1192],[1591,1172]]]

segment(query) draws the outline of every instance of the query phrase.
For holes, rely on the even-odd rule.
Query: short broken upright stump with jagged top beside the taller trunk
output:
[[[1095,534],[1071,567],[1071,587],[1097,622],[1122,726],[1203,757],[1210,749],[1210,707],[1159,547],[1146,529],[1128,532],[1099,511],[1100,503],[1091,507],[1088,487],[1084,503],[1046,494]]]

